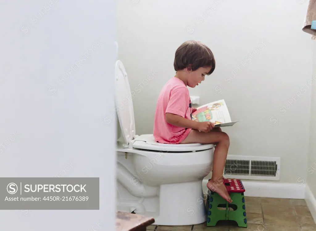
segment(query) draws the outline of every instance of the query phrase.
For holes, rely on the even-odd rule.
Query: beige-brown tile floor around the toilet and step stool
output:
[[[234,222],[221,221],[215,227],[206,223],[188,226],[155,226],[161,231],[316,231],[316,224],[305,200],[245,197],[247,228]]]

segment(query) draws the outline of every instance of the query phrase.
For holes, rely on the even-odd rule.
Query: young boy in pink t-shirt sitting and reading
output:
[[[198,86],[205,75],[215,69],[212,51],[197,41],[186,41],[176,50],[176,74],[162,88],[155,111],[154,137],[156,142],[167,144],[215,144],[212,178],[207,187],[232,202],[223,184],[229,137],[211,122],[192,121],[191,100],[187,86]],[[170,154],[171,155],[171,154]]]

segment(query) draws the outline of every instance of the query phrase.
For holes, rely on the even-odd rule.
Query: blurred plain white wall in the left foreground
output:
[[[98,230],[114,230],[116,126],[102,123],[114,110],[114,7],[99,0],[1,3],[0,176],[55,177],[71,162],[61,177],[100,177],[100,210],[0,210],[0,230],[96,230],[98,222]]]

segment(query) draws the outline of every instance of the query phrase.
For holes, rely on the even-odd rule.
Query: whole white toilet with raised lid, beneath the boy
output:
[[[155,225],[206,221],[202,180],[210,173],[214,145],[160,144],[136,135],[131,90],[123,63],[116,62],[117,211],[155,218]]]

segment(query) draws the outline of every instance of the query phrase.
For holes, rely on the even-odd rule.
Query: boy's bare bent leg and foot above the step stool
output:
[[[229,203],[232,202],[225,185],[223,184],[223,171],[226,163],[229,137],[220,129],[213,128],[209,133],[200,132],[192,129],[189,135],[181,142],[181,144],[200,143],[200,144],[215,144],[213,157],[212,178],[207,183],[207,187],[218,193],[222,198]]]

